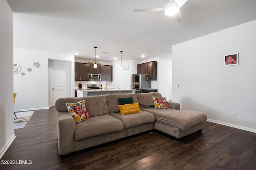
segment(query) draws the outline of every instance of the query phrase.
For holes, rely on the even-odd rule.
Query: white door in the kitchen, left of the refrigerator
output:
[[[130,89],[130,70],[119,70],[118,71],[118,88]]]

